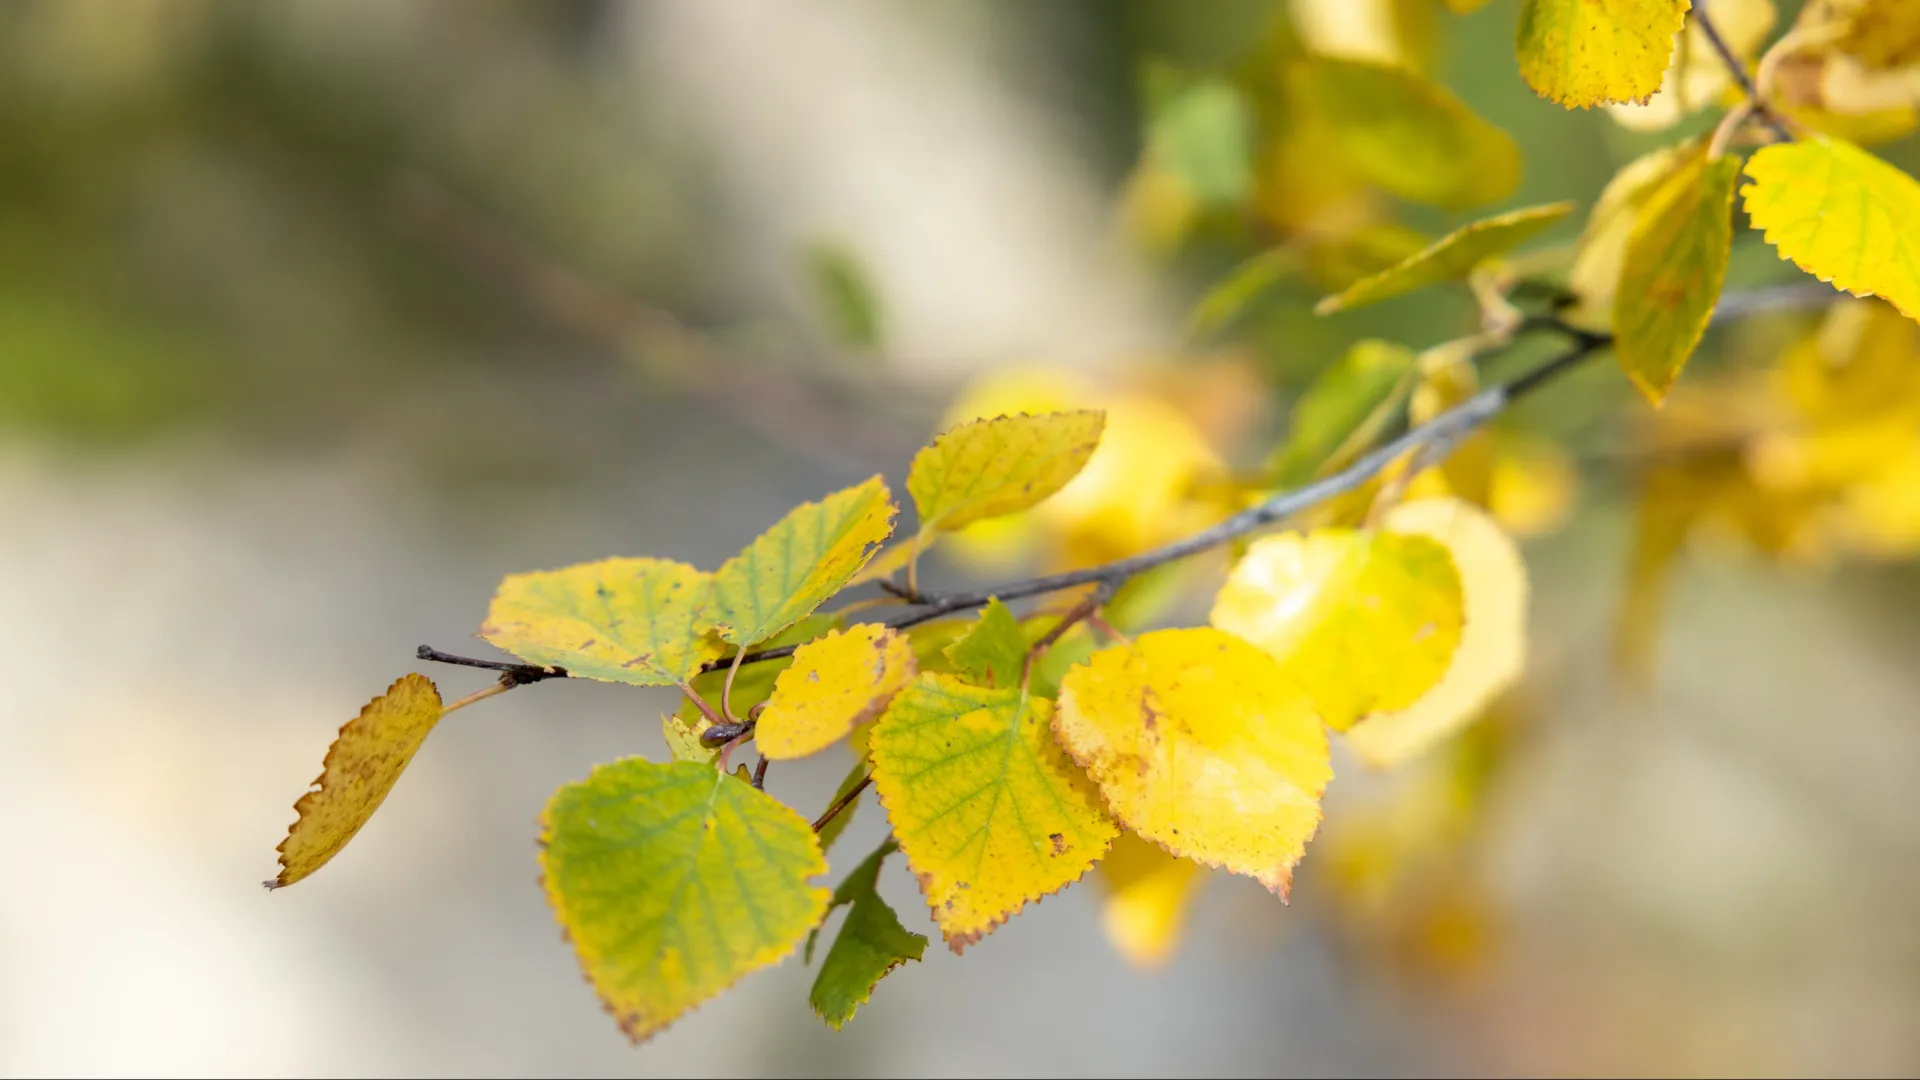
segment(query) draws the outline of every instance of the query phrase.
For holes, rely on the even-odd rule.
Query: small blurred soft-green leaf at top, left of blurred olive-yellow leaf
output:
[[[1146,71],[1146,154],[1202,208],[1236,206],[1254,186],[1254,111],[1231,83],[1165,65]]]

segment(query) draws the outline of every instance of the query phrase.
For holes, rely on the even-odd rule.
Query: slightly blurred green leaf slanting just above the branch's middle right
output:
[[[1413,350],[1380,340],[1356,342],[1294,402],[1288,438],[1269,465],[1273,482],[1298,488],[1348,444],[1371,444],[1413,390]]]

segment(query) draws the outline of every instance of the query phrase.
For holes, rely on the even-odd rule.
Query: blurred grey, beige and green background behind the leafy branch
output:
[[[1920,580],[1709,544],[1622,676],[1645,528],[1619,417],[1645,407],[1611,365],[1503,427],[1551,459],[1523,692],[1405,774],[1336,759],[1294,903],[1215,876],[1158,970],[1102,936],[1089,878],[964,959],[935,942],[841,1034],[795,957],[626,1045],[534,880],[557,784],[660,755],[672,700],[603,684],[463,711],[340,859],[259,890],[334,730],[415,646],[492,655],[470,634],[505,573],[716,567],[799,500],[899,484],[968,402],[1108,402],[1140,457],[1246,467],[1350,342],[1469,332],[1465,290],[1313,317],[1357,256],[1196,332],[1213,282],[1325,208],[1279,184],[1252,225],[1210,217],[1142,148],[1206,123],[1167,119],[1169,71],[1365,52],[1388,19],[1400,60],[1519,142],[1494,208],[1576,200],[1569,242],[1674,133],[1538,100],[1515,12],[0,6],[0,1072],[1920,1068]],[[1361,209],[1413,236],[1484,213]],[[1741,240],[1732,277],[1791,275]],[[1716,332],[1695,365],[1812,321]],[[1106,557],[1183,505],[1069,507],[929,575]],[[843,765],[772,790],[824,805]],[[868,803],[837,853],[881,832]],[[883,892],[931,930],[899,861]]]

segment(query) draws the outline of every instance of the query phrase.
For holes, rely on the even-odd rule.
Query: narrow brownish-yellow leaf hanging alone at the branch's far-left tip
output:
[[[326,748],[313,790],[300,796],[300,815],[280,842],[280,888],[319,871],[353,840],[394,782],[440,723],[440,692],[424,675],[405,675],[348,721]]]

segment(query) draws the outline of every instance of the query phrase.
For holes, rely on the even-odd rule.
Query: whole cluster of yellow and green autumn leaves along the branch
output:
[[[1526,386],[1611,346],[1632,384],[1667,402],[1722,307],[1736,202],[1784,259],[1876,300],[1837,306],[1764,377],[1701,384],[1697,405],[1692,386],[1674,392],[1649,438],[1688,454],[1647,471],[1657,513],[1628,625],[1649,623],[1661,569],[1707,521],[1772,550],[1807,534],[1920,550],[1920,186],[1857,144],[1891,129],[1885,96],[1868,123],[1845,90],[1910,85],[1920,6],[1814,2],[1764,54],[1766,0],[1715,8],[1724,33],[1688,19],[1688,0],[1523,4],[1517,63],[1542,96],[1638,127],[1724,108],[1709,138],[1622,169],[1563,250],[1515,254],[1572,204],[1436,242],[1390,219],[1390,196],[1465,208],[1519,179],[1513,142],[1428,81],[1407,33],[1425,23],[1388,19],[1394,33],[1334,48],[1329,4],[1300,0],[1298,29],[1238,73],[1154,73],[1135,225],[1171,244],[1252,211],[1281,236],[1202,298],[1196,327],[1223,327],[1288,275],[1331,288],[1323,313],[1465,284],[1480,327],[1423,352],[1361,342],[1294,402],[1286,438],[1248,475],[1150,400],[1069,407],[1069,390],[1027,380],[975,388],[914,457],[912,534],[895,536],[893,494],[874,477],[795,507],[716,571],[616,557],[511,575],[480,636],[524,663],[495,663],[499,684],[451,705],[419,675],[367,705],[300,799],[269,884],[338,853],[447,711],[595,678],[682,694],[662,761],[597,767],[541,822],[549,901],[636,1040],[803,940],[810,961],[839,907],[812,1005],[847,1022],[927,944],[876,892],[893,853],[956,953],[1098,865],[1110,936],[1158,963],[1204,867],[1288,894],[1321,824],[1332,740],[1369,767],[1407,763],[1521,676],[1526,575],[1511,536],[1551,513],[1511,482],[1538,473],[1542,452],[1478,429],[1519,390],[1482,390],[1476,361],[1544,327],[1576,350]],[[1524,313],[1524,292],[1553,296],[1553,311]],[[1402,419],[1409,434],[1382,446]],[[983,594],[918,588],[929,546],[991,548],[1037,525],[1060,538],[1056,561],[1083,571]],[[1269,525],[1283,528],[1256,536]],[[1140,596],[1156,575],[1219,546],[1233,563],[1208,625],[1119,628],[1164,609]],[[877,594],[824,609],[856,588]],[[1023,617],[1006,603],[1031,598]],[[756,767],[730,769],[747,742]],[[812,822],[764,790],[770,763],[833,746],[854,761]],[[816,878],[868,786],[889,838],[829,894]],[[1363,865],[1336,871],[1361,880]]]

